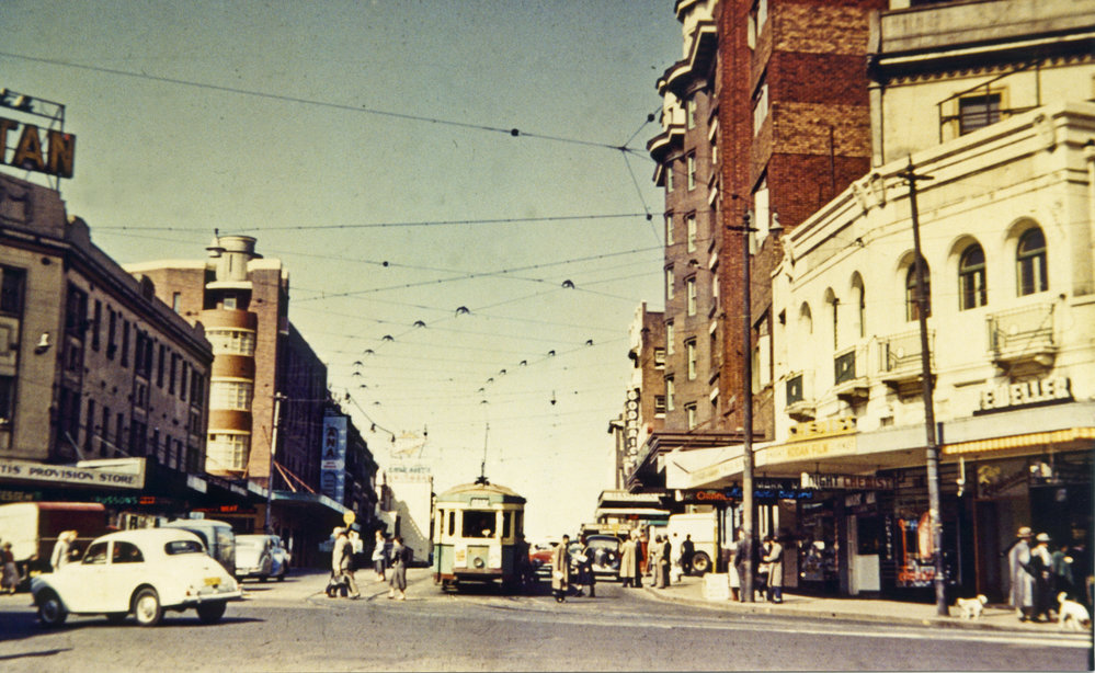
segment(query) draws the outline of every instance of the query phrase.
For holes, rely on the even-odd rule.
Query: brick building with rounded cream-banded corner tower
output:
[[[269,524],[293,541],[303,562],[345,506],[320,492],[327,368],[289,323],[289,277],[280,260],[255,252],[255,239],[218,236],[208,259],[128,266],[152,280],[164,301],[205,326],[213,343],[206,469],[269,494],[230,518],[241,532]],[[317,526],[316,520],[324,521]]]

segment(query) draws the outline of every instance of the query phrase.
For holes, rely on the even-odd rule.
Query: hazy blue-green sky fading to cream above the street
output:
[[[7,0],[0,87],[67,106],[61,193],[98,246],[255,236],[381,465],[368,419],[420,437],[399,446],[429,430],[438,492],[486,446],[529,533],[559,535],[612,488],[627,328],[662,303],[641,150],[673,4]]]

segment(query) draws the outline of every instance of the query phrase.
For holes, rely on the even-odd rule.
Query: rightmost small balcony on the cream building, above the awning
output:
[[[989,316],[993,364],[1010,375],[1045,373],[1053,366],[1058,343],[1052,304],[1033,304]]]

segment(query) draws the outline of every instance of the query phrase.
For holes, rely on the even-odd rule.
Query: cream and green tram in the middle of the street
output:
[[[461,582],[512,589],[527,563],[525,499],[480,479],[437,495],[433,510],[433,579],[443,590]],[[522,556],[525,556],[522,559]]]

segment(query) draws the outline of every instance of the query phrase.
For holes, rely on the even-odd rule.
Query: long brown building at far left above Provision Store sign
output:
[[[95,247],[55,190],[8,175],[0,274],[2,499],[99,499],[148,514],[202,503],[213,362],[203,329]],[[78,463],[132,477],[33,467]]]

